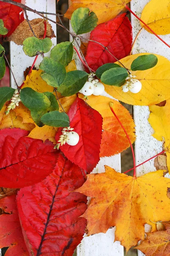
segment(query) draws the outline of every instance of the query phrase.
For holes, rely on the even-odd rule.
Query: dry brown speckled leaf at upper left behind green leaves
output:
[[[35,35],[37,38],[42,39],[44,35],[44,19],[37,18],[34,20],[30,20],[30,25],[32,29],[34,30]],[[54,31],[52,30],[51,24],[46,21],[47,24],[47,32],[46,32],[46,37],[53,38],[56,37],[54,35]],[[22,45],[23,41],[28,38],[33,36],[31,29],[28,25],[27,20],[23,20],[22,23],[15,29],[15,31],[12,33],[12,35],[8,38],[8,41],[13,41],[15,44]]]

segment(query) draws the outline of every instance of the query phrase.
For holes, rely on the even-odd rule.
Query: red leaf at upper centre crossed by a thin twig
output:
[[[96,26],[91,32],[90,39],[103,44],[116,58],[126,57],[132,45],[132,26],[126,13]],[[85,59],[89,67],[95,71],[103,64],[116,61],[104,47],[91,41],[88,43]]]

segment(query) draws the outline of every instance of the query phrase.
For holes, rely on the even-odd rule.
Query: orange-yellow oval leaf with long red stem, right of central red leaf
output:
[[[83,95],[80,94],[79,97],[83,98]],[[110,101],[111,99],[108,97],[96,97],[93,95],[88,96],[87,100],[88,105],[98,111],[103,118],[100,157],[109,157],[118,154],[129,147],[129,141],[127,140],[125,132],[111,112],[109,107]],[[135,140],[135,124],[129,111],[127,111],[127,109],[118,101],[112,100],[112,102],[114,102],[114,111],[116,112],[116,115],[122,122],[133,143]]]

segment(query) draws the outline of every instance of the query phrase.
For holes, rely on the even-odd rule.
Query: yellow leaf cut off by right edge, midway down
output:
[[[164,147],[167,148],[167,168],[170,173],[170,99],[164,107],[150,106],[149,110],[148,121],[154,130],[153,137],[164,141]]]

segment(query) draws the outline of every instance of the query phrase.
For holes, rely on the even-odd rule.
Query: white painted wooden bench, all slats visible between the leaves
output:
[[[60,0],[62,1],[62,0]],[[106,0],[107,1],[107,0]],[[149,0],[132,0],[130,2],[130,7],[137,15],[140,16],[142,9]],[[32,9],[45,12],[55,12],[56,9],[56,0],[26,0],[26,5]],[[38,17],[38,15],[28,12],[29,20]],[[48,15],[51,19],[54,19],[55,16]],[[131,16],[131,22],[133,26],[133,39],[135,38],[137,32],[140,29],[139,21],[135,17]],[[56,26],[54,23],[51,23],[53,30],[56,34]],[[162,36],[164,41],[170,44],[170,37]],[[52,39],[54,45],[56,45],[56,38]],[[20,85],[23,82],[23,71],[26,70],[26,67],[31,66],[34,58],[26,56],[23,52],[22,46],[17,46],[14,43],[10,43],[10,57],[11,57],[11,67],[14,72],[14,76],[17,79],[17,83]],[[154,35],[151,35],[143,29],[139,38],[136,41],[136,44],[133,48],[133,54],[139,52],[153,52],[165,56],[170,59],[170,49],[166,47],[158,38]],[[41,57],[38,57],[36,67],[41,61]],[[77,67],[81,64],[77,61]],[[11,85],[15,87],[14,80],[11,77]],[[160,152],[162,148],[162,143],[155,140],[151,134],[153,133],[152,128],[150,127],[147,118],[149,115],[148,107],[134,107],[134,120],[136,124],[136,143],[135,143],[135,153],[136,153],[136,165],[142,163],[144,160],[152,157],[156,152]],[[153,170],[153,161],[145,163],[143,166],[137,168],[137,175],[143,175],[144,173],[150,172]],[[100,172],[104,170],[104,165],[108,165],[116,169],[116,171],[121,171],[120,155],[113,157],[102,158],[97,166],[97,170]],[[100,233],[94,236],[85,237],[82,240],[82,243],[77,247],[77,256],[123,256],[124,250],[118,241],[114,241],[114,231],[115,227],[109,229],[106,234]],[[138,252],[139,256],[142,256],[143,253]]]

